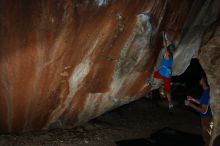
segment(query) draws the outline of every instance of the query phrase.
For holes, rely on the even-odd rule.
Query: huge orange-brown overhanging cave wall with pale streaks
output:
[[[161,31],[180,44],[179,74],[199,46],[184,38],[200,42],[216,2],[0,0],[0,131],[73,127],[140,98]]]

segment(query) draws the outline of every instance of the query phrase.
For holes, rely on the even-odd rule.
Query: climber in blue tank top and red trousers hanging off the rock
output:
[[[170,82],[172,76],[173,51],[175,50],[175,46],[171,43],[171,41],[169,41],[166,33],[163,33],[163,47],[165,48],[165,52],[163,53],[159,69],[153,74],[153,85],[151,90],[155,89],[154,84],[158,79],[162,80],[164,82],[164,89],[168,100],[168,108],[169,110],[173,110]]]

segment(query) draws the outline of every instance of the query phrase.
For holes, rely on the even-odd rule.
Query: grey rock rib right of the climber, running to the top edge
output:
[[[192,57],[198,57],[204,32],[219,17],[219,1],[195,1],[193,9],[185,22],[182,39],[174,54],[174,75],[182,74]],[[199,11],[198,11],[199,10]]]

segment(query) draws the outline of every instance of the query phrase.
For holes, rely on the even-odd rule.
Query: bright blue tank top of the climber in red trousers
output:
[[[159,68],[159,73],[166,78],[171,78],[172,76],[172,65],[173,65],[173,57],[170,57],[169,60],[166,60],[163,57],[162,65]]]

